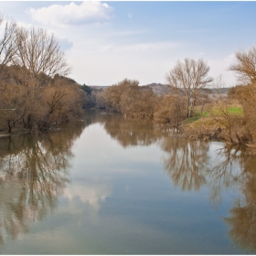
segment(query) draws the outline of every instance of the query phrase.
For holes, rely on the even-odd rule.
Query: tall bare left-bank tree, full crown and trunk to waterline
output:
[[[56,74],[67,75],[69,65],[59,42],[53,35],[41,28],[32,27],[29,30],[18,28],[16,31],[15,64],[18,82],[26,88],[27,98],[27,128],[32,129],[37,123],[37,111],[42,95],[42,89]]]

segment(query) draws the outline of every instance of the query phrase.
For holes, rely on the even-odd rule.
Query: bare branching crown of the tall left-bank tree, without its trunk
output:
[[[63,76],[69,74],[70,67],[59,42],[53,34],[49,36],[42,28],[32,27],[30,30],[18,28],[16,48],[15,64],[27,69],[31,78],[38,78],[42,73],[51,78],[56,74]]]

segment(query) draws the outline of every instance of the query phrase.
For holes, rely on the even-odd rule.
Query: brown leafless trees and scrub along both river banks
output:
[[[229,91],[228,98],[216,96],[222,95],[222,78],[209,77],[208,64],[202,59],[177,61],[165,75],[169,89],[164,94],[128,79],[96,91],[65,77],[70,67],[53,35],[41,28],[17,27],[0,16],[0,26],[4,24],[0,38],[2,131],[48,130],[77,118],[83,106],[168,123],[182,128],[190,138],[256,144],[256,47],[235,53],[229,70],[236,72],[240,85]],[[208,97],[210,85],[216,89],[215,97]],[[229,112],[232,104],[240,104],[242,114]]]

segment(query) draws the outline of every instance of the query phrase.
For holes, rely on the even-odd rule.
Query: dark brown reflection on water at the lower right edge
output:
[[[240,163],[240,175],[235,178],[239,180],[241,194],[224,221],[229,225],[229,237],[235,245],[246,251],[256,251],[256,159],[240,147],[225,152],[227,154],[230,162]]]

